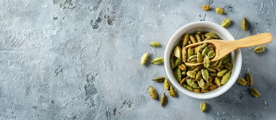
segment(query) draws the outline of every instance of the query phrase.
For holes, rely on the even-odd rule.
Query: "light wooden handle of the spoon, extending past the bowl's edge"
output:
[[[235,46],[236,48],[244,48],[244,47],[265,44],[270,42],[271,40],[272,40],[272,34],[266,32],[266,33],[261,33],[253,36],[248,36],[239,40],[229,40],[228,43],[231,44],[231,46]]]

